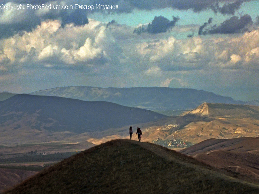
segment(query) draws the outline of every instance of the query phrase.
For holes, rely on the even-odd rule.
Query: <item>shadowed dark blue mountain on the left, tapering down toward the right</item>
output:
[[[165,117],[149,110],[104,101],[15,95],[0,102],[0,143],[7,141],[6,137],[15,139],[15,142],[26,138],[31,141],[52,138],[54,141],[79,133],[103,131]]]

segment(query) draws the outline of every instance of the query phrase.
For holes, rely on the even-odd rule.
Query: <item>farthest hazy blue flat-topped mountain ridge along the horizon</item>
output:
[[[75,98],[85,101],[108,101],[148,110],[187,110],[203,102],[239,104],[231,97],[195,89],[167,87],[97,88],[88,86],[58,87],[31,94]]]

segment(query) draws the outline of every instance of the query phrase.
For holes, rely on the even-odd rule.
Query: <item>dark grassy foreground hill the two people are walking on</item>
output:
[[[113,140],[74,155],[7,193],[259,193],[172,150]]]

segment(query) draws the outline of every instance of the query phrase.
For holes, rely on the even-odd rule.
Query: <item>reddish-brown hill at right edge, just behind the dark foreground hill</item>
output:
[[[181,150],[236,177],[259,183],[259,137],[208,139]]]

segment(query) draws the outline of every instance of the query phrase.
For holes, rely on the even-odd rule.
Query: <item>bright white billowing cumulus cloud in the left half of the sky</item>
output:
[[[18,63],[27,68],[36,68],[37,64],[37,68],[81,70],[118,61],[115,58],[121,53],[106,24],[94,20],[85,26],[64,27],[59,20],[47,20],[32,32],[2,39],[0,48],[0,65]]]

